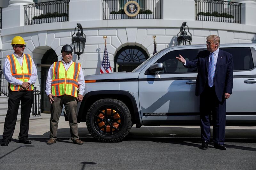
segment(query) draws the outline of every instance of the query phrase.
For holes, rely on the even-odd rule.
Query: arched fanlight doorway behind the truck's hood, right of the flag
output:
[[[120,49],[115,56],[115,72],[131,72],[141,63],[148,59],[145,50],[138,46],[125,46]]]

